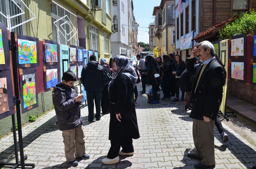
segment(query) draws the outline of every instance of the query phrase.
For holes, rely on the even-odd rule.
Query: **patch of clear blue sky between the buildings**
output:
[[[136,22],[140,25],[138,28],[138,42],[149,42],[148,25],[154,22],[153,9],[160,5],[161,0],[133,0],[133,13]],[[146,27],[146,28],[141,28]]]

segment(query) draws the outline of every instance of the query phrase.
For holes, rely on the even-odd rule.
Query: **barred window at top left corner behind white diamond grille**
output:
[[[25,6],[24,4],[17,0],[15,1],[10,1],[10,0],[0,0],[0,11],[6,16],[6,17],[12,17],[14,15],[18,15],[22,13],[22,10],[25,11]],[[21,10],[22,9],[22,10]],[[28,11],[28,10],[26,10]],[[14,18],[6,19],[3,15],[0,15],[0,22],[4,23],[7,28],[12,28],[15,27],[16,25],[22,23],[25,21],[25,14],[16,16]],[[13,31],[18,34],[23,34],[26,35],[26,27],[24,24],[15,27],[11,29],[10,31]]]

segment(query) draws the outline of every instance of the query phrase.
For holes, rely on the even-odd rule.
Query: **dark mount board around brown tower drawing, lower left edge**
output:
[[[13,83],[10,70],[0,70],[0,119],[14,114]]]

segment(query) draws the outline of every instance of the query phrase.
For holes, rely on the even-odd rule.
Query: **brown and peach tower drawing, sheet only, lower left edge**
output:
[[[12,89],[10,89],[12,90]],[[6,77],[0,78],[0,114],[9,111]]]

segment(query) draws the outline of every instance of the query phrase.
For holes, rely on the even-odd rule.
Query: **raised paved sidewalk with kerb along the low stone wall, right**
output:
[[[251,123],[256,124],[256,105],[238,99],[234,96],[227,97],[227,108]]]

